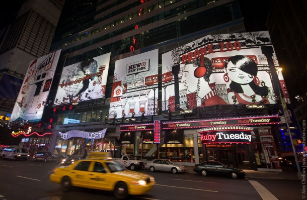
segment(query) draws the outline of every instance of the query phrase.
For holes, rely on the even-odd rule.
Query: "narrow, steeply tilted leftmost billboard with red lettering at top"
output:
[[[10,122],[41,120],[60,52],[57,50],[31,61]]]

